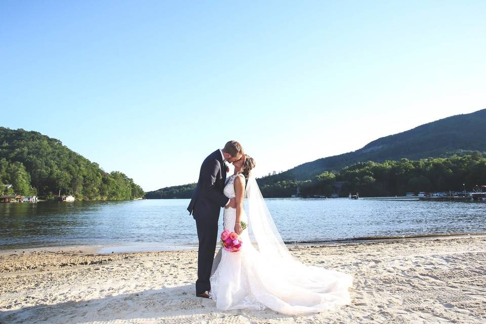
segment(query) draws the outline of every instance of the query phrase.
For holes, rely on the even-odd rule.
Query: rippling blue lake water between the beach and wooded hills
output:
[[[486,232],[486,204],[446,201],[266,199],[285,241]],[[96,245],[113,251],[197,244],[189,199],[0,204],[0,250]],[[220,228],[223,217],[220,216]],[[220,229],[221,230],[221,229]]]

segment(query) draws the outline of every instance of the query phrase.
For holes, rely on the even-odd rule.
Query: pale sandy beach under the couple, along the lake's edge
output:
[[[292,245],[301,262],[350,273],[352,303],[291,317],[218,311],[194,296],[195,250],[94,254],[92,249],[0,255],[7,323],[484,323],[486,236]]]

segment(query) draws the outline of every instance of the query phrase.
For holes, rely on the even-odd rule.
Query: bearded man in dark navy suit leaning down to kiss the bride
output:
[[[223,149],[217,149],[203,161],[199,180],[187,210],[196,220],[199,251],[197,252],[196,296],[210,298],[211,268],[218,240],[218,219],[221,207],[236,208],[234,198],[223,194],[226,180],[224,161],[233,163],[244,154],[241,144],[229,141]]]

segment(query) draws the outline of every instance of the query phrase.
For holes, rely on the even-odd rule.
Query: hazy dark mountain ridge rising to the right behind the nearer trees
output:
[[[476,151],[486,152],[486,141],[475,137],[483,132],[484,128],[486,128],[486,109],[453,115],[407,131],[380,137],[354,151],[322,157],[275,175],[264,176],[258,179],[258,183],[263,192],[265,187],[278,182],[310,181],[326,171],[339,171],[344,167],[367,161],[381,163],[401,158],[418,160],[428,157],[466,155]],[[194,185],[191,183],[164,187],[146,194],[147,198],[173,198],[179,197],[179,193],[183,193],[183,197],[190,197]]]

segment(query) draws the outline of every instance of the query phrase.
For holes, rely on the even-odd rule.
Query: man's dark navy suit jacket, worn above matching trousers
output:
[[[228,197],[223,194],[226,181],[226,169],[223,157],[218,150],[203,161],[199,171],[199,180],[187,207],[194,219],[219,217],[221,207],[226,206]]]

